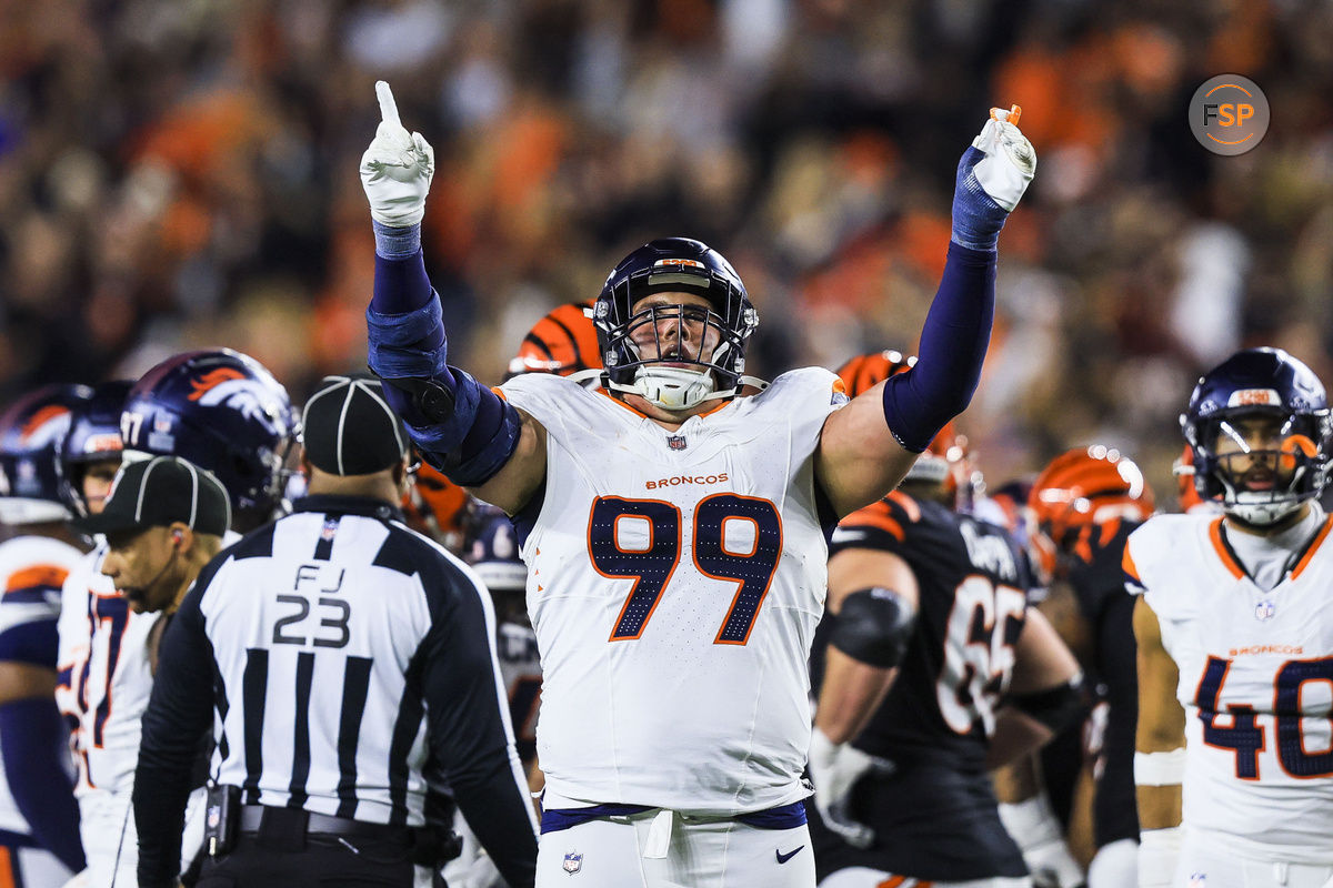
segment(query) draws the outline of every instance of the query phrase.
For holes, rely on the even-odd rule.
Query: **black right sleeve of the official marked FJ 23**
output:
[[[537,837],[516,776],[513,736],[504,722],[508,702],[496,679],[492,630],[479,591],[452,566],[435,579],[423,576],[423,583],[451,586],[428,587],[435,624],[415,658],[432,762],[500,875],[512,888],[527,888],[535,879]]]

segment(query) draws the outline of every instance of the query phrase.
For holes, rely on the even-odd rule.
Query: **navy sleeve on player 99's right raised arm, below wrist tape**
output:
[[[924,451],[972,401],[990,343],[994,302],[994,252],[949,244],[916,366],[884,385],[884,419],[905,450]]]

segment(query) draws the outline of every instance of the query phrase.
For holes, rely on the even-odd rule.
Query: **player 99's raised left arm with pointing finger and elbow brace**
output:
[[[365,312],[371,370],[425,459],[512,514],[545,479],[545,430],[449,366],[440,297],[421,254],[435,150],[403,126],[389,85],[381,80],[375,91],[381,120],[361,156],[375,225],[375,296]]]

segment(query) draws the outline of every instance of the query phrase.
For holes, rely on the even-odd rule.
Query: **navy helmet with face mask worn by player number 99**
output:
[[[666,292],[697,293],[709,308],[657,305],[633,312],[639,300]],[[664,321],[676,322],[674,342],[661,341]],[[706,330],[716,332],[712,354],[676,354],[666,358],[676,366],[657,363],[685,339],[688,322],[702,322],[705,338]],[[686,237],[665,237],[644,244],[612,270],[595,304],[593,324],[609,387],[684,410],[736,393],[745,373],[745,341],[758,326],[758,312],[721,253]],[[640,354],[640,342],[649,341],[657,347]]]

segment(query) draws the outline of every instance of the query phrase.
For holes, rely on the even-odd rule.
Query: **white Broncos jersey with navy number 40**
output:
[[[1333,863],[1333,517],[1272,591],[1222,519],[1157,515],[1125,570],[1180,667],[1184,825],[1249,857]],[[1234,533],[1234,531],[1233,531]]]

